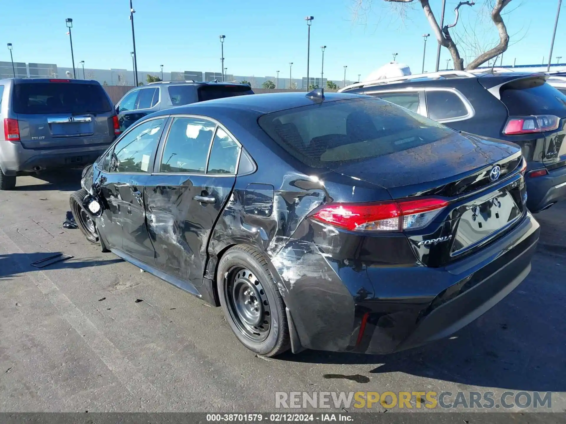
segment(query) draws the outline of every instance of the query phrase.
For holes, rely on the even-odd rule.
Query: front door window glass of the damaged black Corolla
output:
[[[114,146],[109,171],[149,172],[151,155],[161,137],[165,119],[148,120],[124,135]]]

